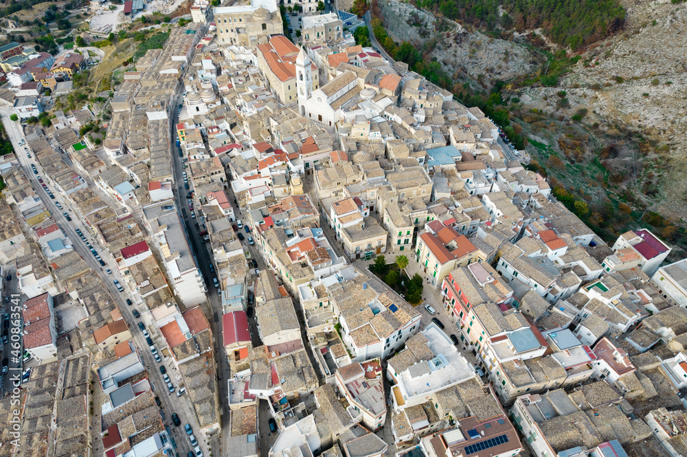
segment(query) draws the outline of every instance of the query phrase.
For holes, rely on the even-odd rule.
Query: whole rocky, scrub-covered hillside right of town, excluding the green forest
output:
[[[490,31],[484,21],[447,20],[436,3],[430,12],[382,0],[372,10],[396,44],[408,41],[425,62],[440,63],[459,99],[493,117],[506,113],[511,139],[528,139],[530,167],[547,174],[559,199],[597,233],[612,242],[646,226],[675,243],[679,256],[687,244],[687,7],[620,6],[622,31],[577,53],[561,46],[551,23]]]

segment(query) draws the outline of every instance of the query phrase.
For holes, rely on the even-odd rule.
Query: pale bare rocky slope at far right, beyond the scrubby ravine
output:
[[[555,88],[524,91],[521,102],[528,110],[567,119],[586,110],[580,124],[598,146],[610,146],[600,159],[619,175],[616,184],[649,209],[685,224],[687,5],[622,3],[622,34],[586,51]],[[561,91],[566,104],[556,96]]]

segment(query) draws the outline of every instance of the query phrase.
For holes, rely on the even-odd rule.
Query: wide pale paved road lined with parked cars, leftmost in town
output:
[[[191,410],[191,406],[188,401],[188,396],[183,395],[182,397],[177,397],[176,395],[170,394],[167,391],[166,384],[164,383],[164,379],[162,378],[162,375],[159,371],[160,364],[157,364],[157,362],[155,362],[155,358],[153,358],[153,355],[147,349],[148,344],[146,343],[143,333],[138,329],[138,319],[135,319],[133,317],[132,311],[134,307],[126,305],[126,298],[133,298],[133,296],[131,296],[131,293],[128,292],[126,288],[124,292],[119,292],[115,287],[115,284],[113,283],[113,279],[118,279],[123,286],[125,285],[124,279],[120,276],[119,272],[116,271],[116,268],[112,268],[115,265],[113,257],[109,254],[106,248],[103,248],[98,244],[97,240],[93,239],[93,237],[87,236],[91,245],[95,248],[95,250],[98,251],[98,253],[100,253],[102,259],[104,259],[104,261],[106,261],[108,265],[112,268],[113,274],[109,275],[106,274],[106,272],[104,272],[103,269],[101,269],[100,263],[98,263],[98,261],[95,260],[95,257],[93,257],[93,255],[91,254],[89,248],[87,248],[87,246],[82,243],[78,235],[76,235],[76,228],[79,228],[85,234],[91,233],[89,229],[87,229],[87,227],[84,224],[82,224],[82,221],[79,218],[72,218],[71,221],[67,221],[67,218],[65,218],[65,216],[63,215],[63,211],[58,210],[54,206],[54,202],[58,201],[57,199],[60,195],[58,194],[57,189],[54,189],[51,185],[48,184],[48,187],[52,188],[53,194],[56,196],[56,200],[51,200],[47,196],[47,192],[41,186],[41,183],[38,183],[38,179],[36,178],[36,176],[43,176],[43,178],[46,178],[47,176],[45,176],[45,174],[43,173],[41,165],[38,163],[38,161],[35,160],[33,152],[32,159],[28,159],[23,150],[24,147],[19,146],[19,139],[25,138],[23,136],[23,132],[21,132],[21,127],[19,126],[19,124],[10,121],[9,117],[11,114],[12,112],[10,112],[6,108],[0,109],[1,119],[3,121],[3,124],[5,124],[5,130],[8,132],[8,136],[12,141],[12,145],[14,145],[14,150],[17,152],[16,156],[19,159],[21,167],[23,167],[26,176],[29,177],[34,189],[36,189],[38,196],[41,198],[41,200],[43,200],[47,209],[49,209],[49,211],[52,213],[52,218],[54,219],[54,221],[58,224],[58,226],[60,226],[65,235],[67,235],[67,237],[69,237],[69,239],[71,239],[74,242],[74,250],[76,250],[76,253],[78,253],[86,261],[86,263],[89,264],[91,270],[93,270],[96,274],[100,276],[100,279],[102,280],[102,283],[104,284],[105,288],[110,293],[110,296],[114,299],[115,303],[117,303],[117,306],[122,312],[122,316],[124,316],[124,320],[126,320],[129,329],[131,329],[134,343],[136,344],[136,347],[140,349],[139,353],[143,357],[144,365],[146,366],[146,369],[148,371],[149,379],[153,384],[153,391],[161,400],[162,408],[166,415],[166,423],[170,425],[170,429],[172,429],[172,436],[175,436],[175,441],[177,441],[177,452],[179,452],[180,456],[187,454],[190,450],[192,450],[190,441],[188,441],[188,438],[183,438],[183,436],[185,436],[183,429],[180,429],[180,433],[176,432],[177,427],[174,427],[174,424],[172,423],[172,412],[177,412],[177,414],[179,414],[179,419],[181,419],[182,424],[191,423],[194,427],[194,432],[197,432],[198,429],[197,425],[195,425],[194,414]],[[38,169],[38,175],[32,172],[32,163],[36,165],[36,168]],[[49,180],[44,179],[44,181],[47,184]],[[25,298],[26,297],[23,296],[22,301],[25,300]],[[171,364],[166,364],[166,366],[168,368],[168,372],[173,371],[171,369]],[[170,378],[173,379],[172,384],[174,384],[174,386],[176,387],[177,382],[174,380],[175,373],[171,374],[172,375],[170,375]],[[196,433],[196,438],[199,438],[199,435],[199,433]],[[208,456],[209,453],[207,453],[207,447],[205,447],[204,443],[202,443],[202,440],[199,440],[199,443],[201,443],[201,449],[203,449],[203,454]]]

